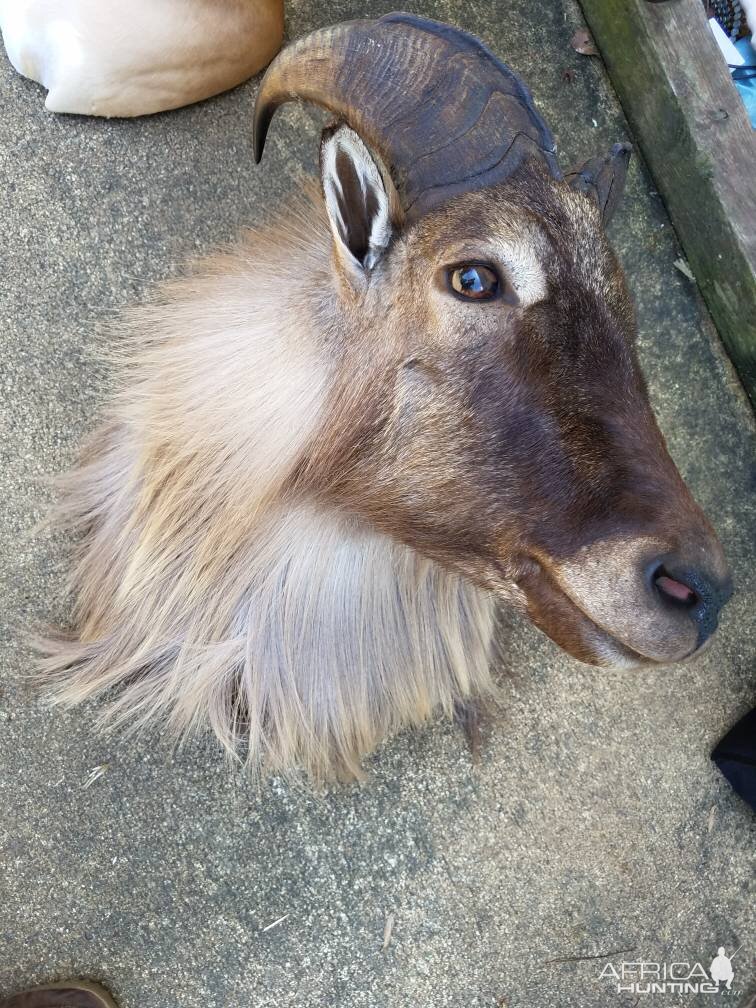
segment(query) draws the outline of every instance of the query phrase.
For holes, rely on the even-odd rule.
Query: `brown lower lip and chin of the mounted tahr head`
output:
[[[525,561],[515,584],[524,596],[530,621],[562,650],[586,664],[639,668],[668,665],[698,653],[694,649],[674,659],[662,660],[631,647],[592,619],[537,560]]]

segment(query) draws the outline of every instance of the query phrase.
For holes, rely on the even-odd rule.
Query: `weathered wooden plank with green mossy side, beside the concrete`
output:
[[[701,0],[582,0],[612,84],[756,407],[756,139]]]

